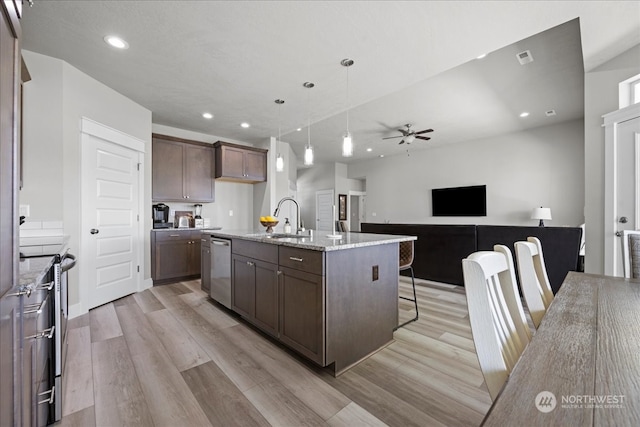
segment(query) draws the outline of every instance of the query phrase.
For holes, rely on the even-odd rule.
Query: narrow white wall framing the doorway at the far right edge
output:
[[[640,44],[585,73],[585,271],[604,273],[604,114],[618,110],[618,83],[640,73]]]

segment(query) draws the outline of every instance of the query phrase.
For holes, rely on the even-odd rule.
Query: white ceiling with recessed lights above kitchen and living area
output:
[[[154,123],[252,144],[277,136],[280,123],[302,158],[310,107],[317,162],[404,154],[398,139],[382,138],[405,123],[434,129],[409,146],[417,150],[582,117],[584,71],[640,40],[637,1],[34,3],[23,49],[68,62],[151,110]],[[109,47],[107,34],[130,48]],[[518,63],[523,50],[534,62]],[[355,61],[351,159],[340,156],[344,58]]]

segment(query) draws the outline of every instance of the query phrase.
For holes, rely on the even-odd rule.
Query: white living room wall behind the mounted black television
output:
[[[582,120],[527,132],[377,158],[349,166],[366,178],[366,221],[423,224],[537,225],[536,206],[551,208],[550,226],[583,222]],[[433,217],[431,189],[487,186],[486,217]],[[375,215],[375,216],[374,216]]]

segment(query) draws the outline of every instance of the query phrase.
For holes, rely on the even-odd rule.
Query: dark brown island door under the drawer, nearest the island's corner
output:
[[[323,277],[281,267],[280,340],[324,366]]]

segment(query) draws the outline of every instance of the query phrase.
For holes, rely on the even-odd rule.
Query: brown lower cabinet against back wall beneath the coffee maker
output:
[[[200,275],[201,235],[194,230],[151,231],[151,278],[171,283]]]

